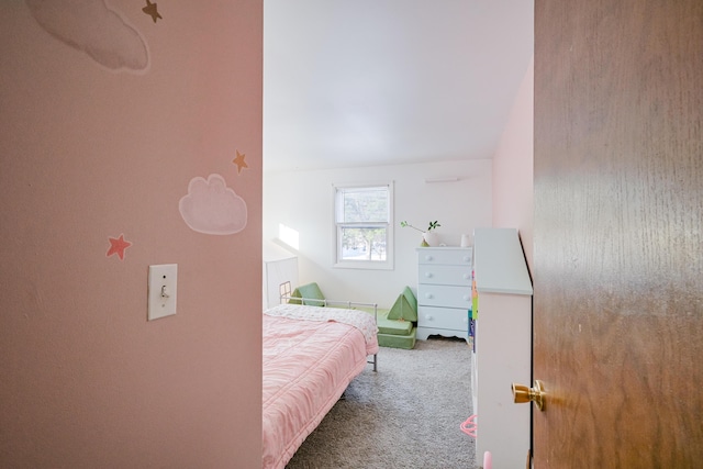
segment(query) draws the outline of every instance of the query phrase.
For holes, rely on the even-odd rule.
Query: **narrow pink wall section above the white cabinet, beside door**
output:
[[[493,226],[514,227],[533,261],[534,62],[517,91],[510,120],[493,156]]]

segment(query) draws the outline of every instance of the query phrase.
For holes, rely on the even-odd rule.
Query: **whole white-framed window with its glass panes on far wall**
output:
[[[335,186],[335,267],[392,269],[392,183]]]

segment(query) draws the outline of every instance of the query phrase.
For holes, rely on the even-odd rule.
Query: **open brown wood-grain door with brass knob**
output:
[[[535,0],[534,467],[703,467],[703,1]]]

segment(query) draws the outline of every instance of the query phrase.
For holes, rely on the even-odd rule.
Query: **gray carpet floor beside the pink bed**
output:
[[[287,469],[475,469],[470,349],[432,336],[403,350],[381,347]]]

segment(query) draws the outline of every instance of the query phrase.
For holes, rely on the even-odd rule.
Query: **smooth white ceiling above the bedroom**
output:
[[[264,170],[491,158],[533,0],[265,0]]]

